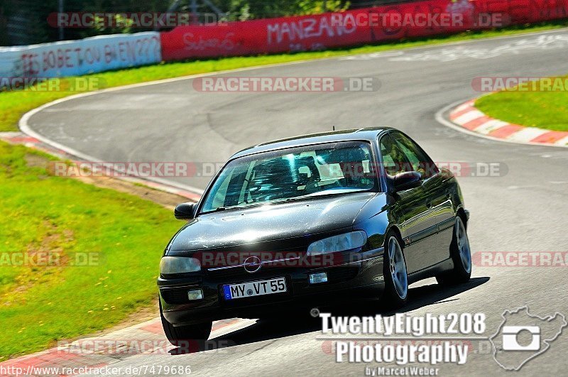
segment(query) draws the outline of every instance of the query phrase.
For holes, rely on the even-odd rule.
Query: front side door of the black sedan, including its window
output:
[[[412,165],[400,145],[389,134],[379,141],[384,172],[394,176],[411,171]],[[424,266],[424,251],[417,246],[417,241],[427,231],[426,193],[423,185],[397,192],[391,210],[400,235],[405,243],[405,261],[408,273],[420,271]]]

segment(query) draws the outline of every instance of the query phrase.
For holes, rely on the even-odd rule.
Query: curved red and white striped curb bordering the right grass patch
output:
[[[493,119],[475,106],[475,100],[457,106],[449,112],[449,119],[457,126],[503,141],[568,146],[568,132],[525,127]]]

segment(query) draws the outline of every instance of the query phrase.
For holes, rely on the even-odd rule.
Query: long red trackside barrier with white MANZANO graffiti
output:
[[[324,50],[568,17],[568,0],[431,0],[160,33],[163,60]]]

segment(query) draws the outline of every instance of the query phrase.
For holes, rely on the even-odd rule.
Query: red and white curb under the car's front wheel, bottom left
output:
[[[213,322],[209,339],[225,337],[226,334],[255,323],[255,319],[223,319]],[[209,341],[214,343],[213,341]],[[219,346],[228,344],[219,342]],[[189,349],[191,351],[191,345]],[[111,366],[132,356],[144,354],[169,354],[176,347],[165,338],[160,318],[119,329],[100,337],[58,342],[47,351],[21,356],[0,363],[0,376],[75,376],[85,373],[85,368],[97,369]],[[212,346],[212,349],[214,347]],[[182,351],[183,352],[183,351]],[[17,372],[17,373],[16,373]]]

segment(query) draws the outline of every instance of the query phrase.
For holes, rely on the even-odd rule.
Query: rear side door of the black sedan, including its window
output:
[[[425,193],[424,226],[425,238],[411,238],[420,241],[422,262],[425,267],[435,265],[449,257],[449,244],[452,242],[452,226],[454,224],[454,206],[449,186],[430,157],[408,136],[403,133],[392,134],[397,145],[405,153],[413,170],[422,174],[422,189]]]

